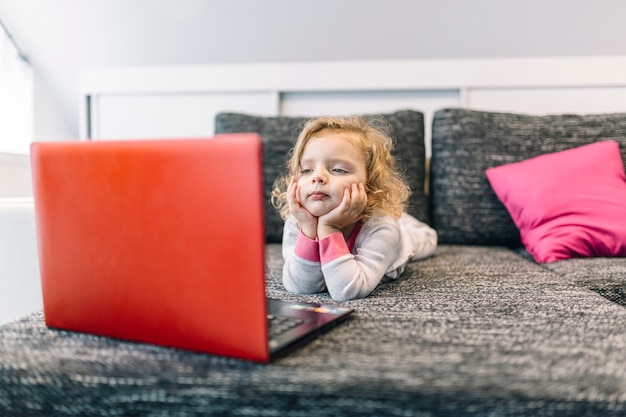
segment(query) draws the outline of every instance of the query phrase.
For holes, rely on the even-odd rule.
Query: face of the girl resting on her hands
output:
[[[297,176],[298,199],[312,215],[322,216],[342,199],[352,184],[366,184],[365,161],[348,134],[324,133],[309,139]]]

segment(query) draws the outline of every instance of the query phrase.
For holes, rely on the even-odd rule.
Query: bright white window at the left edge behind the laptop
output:
[[[28,153],[34,132],[33,70],[0,21],[0,152]]]

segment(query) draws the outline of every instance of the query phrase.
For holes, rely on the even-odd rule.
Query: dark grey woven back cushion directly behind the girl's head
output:
[[[382,116],[390,125],[395,140],[394,155],[413,191],[408,212],[428,222],[428,203],[424,195],[424,115],[402,110],[377,116]],[[283,233],[283,220],[270,203],[274,180],[286,170],[288,153],[307,120],[309,117],[265,117],[238,113],[220,113],[215,118],[215,133],[255,132],[261,135],[268,242],[280,242]]]

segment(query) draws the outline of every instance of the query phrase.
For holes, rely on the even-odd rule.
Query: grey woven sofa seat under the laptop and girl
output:
[[[562,266],[564,266],[562,264]],[[267,247],[271,297],[280,245]],[[619,276],[616,276],[617,280]],[[626,277],[621,276],[621,284]],[[0,327],[9,415],[623,415],[626,308],[505,247],[442,245],[268,365]]]

